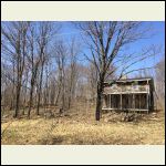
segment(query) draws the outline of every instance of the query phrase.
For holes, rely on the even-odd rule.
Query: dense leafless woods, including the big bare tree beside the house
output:
[[[142,22],[71,24],[82,32],[82,42],[58,38],[62,27],[54,22],[2,22],[1,114],[11,111],[13,117],[31,118],[32,110],[40,115],[41,107],[53,105],[65,112],[74,103],[89,102],[95,105],[98,121],[103,83],[146,70],[154,71],[156,94],[164,107],[165,60],[153,66],[131,68],[157,56],[162,49],[149,45],[138,53],[125,54],[126,45],[143,40],[149,32],[139,29]],[[89,52],[84,52],[84,46]]]

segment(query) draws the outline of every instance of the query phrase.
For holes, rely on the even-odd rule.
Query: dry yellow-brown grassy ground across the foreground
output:
[[[163,145],[164,112],[144,115],[137,122],[116,121],[113,113],[94,121],[94,112],[74,111],[45,120],[10,120],[2,122],[2,144],[17,145]]]

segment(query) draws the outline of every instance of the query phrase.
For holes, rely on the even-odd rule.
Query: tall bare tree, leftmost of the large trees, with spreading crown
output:
[[[29,24],[30,22],[8,22],[6,25],[2,25],[1,30],[3,40],[8,41],[8,44],[4,42],[6,45],[2,42],[3,49],[6,50],[6,53],[12,56],[15,63],[15,108],[13,117],[18,117],[19,115],[20,93],[27,55],[27,34]]]

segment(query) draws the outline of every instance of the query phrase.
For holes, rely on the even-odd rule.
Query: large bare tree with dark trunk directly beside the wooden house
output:
[[[96,121],[100,121],[101,117],[102,92],[107,71],[125,45],[143,37],[143,32],[145,31],[139,30],[141,24],[142,22],[134,21],[93,21],[76,23],[76,27],[84,31],[87,37],[85,42],[91,51],[91,55],[85,54],[85,56],[95,65],[98,72],[95,112]],[[114,71],[111,71],[110,75],[113,73]]]

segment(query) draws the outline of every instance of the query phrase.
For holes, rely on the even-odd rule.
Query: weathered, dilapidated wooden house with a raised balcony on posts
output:
[[[149,112],[154,110],[152,77],[126,79],[104,83],[102,110]]]

